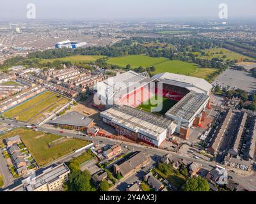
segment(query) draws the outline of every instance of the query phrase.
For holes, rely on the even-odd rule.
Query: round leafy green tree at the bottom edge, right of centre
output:
[[[198,176],[192,177],[182,185],[183,191],[209,191],[210,186],[206,179]]]

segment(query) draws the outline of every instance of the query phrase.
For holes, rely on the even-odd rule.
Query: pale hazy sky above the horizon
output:
[[[38,19],[216,17],[220,3],[228,18],[255,16],[255,0],[0,0],[0,19],[26,19],[28,3]]]

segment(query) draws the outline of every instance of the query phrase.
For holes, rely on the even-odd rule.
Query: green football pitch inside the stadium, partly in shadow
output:
[[[152,113],[157,113],[159,115],[164,115],[177,102],[178,101],[174,101],[169,98],[163,98],[162,96],[157,96],[156,98],[155,98],[155,96],[153,96],[152,98],[145,101],[143,104],[139,105],[137,108],[140,110],[144,110],[145,112],[152,112]],[[161,105],[159,105],[159,107],[161,107],[160,111],[158,111],[158,110],[156,111],[157,103],[162,103],[162,107],[161,107]]]

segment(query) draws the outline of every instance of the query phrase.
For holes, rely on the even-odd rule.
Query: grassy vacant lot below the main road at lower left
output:
[[[51,163],[51,161],[65,156],[66,154],[84,147],[89,143],[85,140],[77,140],[72,138],[63,140],[63,142],[58,143],[53,147],[49,147],[49,143],[60,139],[61,136],[46,134],[26,128],[13,129],[4,135],[1,135],[1,142],[3,138],[8,138],[15,135],[20,135],[22,142],[24,145],[26,145],[39,166],[44,166],[47,163]]]

